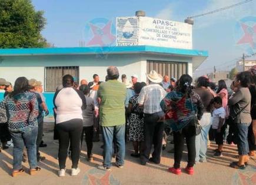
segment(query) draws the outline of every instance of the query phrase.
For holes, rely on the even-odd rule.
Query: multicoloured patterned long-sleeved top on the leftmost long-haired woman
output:
[[[38,102],[33,92],[24,92],[14,97],[6,96],[0,103],[0,122],[8,123],[12,132],[20,132],[27,127],[37,127]]]

